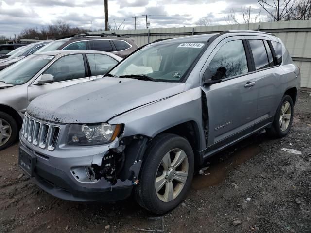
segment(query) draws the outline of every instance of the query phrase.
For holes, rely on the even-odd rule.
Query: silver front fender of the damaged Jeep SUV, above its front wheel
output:
[[[199,148],[204,150],[206,142],[202,127],[201,87],[113,117],[109,120],[109,124],[124,124],[124,137],[142,134],[153,138],[157,134],[187,121],[194,121],[198,125]]]

